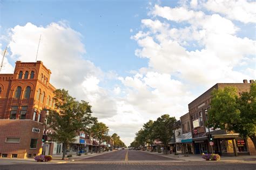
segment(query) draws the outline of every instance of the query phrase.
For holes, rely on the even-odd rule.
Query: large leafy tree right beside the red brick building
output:
[[[56,110],[49,110],[48,117],[50,128],[53,130],[50,138],[63,144],[62,159],[64,159],[66,147],[75,141],[77,133],[87,130],[97,119],[91,117],[89,103],[85,101],[79,103],[64,89],[58,89],[54,93]]]

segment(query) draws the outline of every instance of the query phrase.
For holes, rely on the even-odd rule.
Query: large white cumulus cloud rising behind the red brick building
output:
[[[35,62],[38,40],[41,43],[37,60],[52,71],[51,83],[68,89],[77,99],[87,100],[93,106],[93,115],[99,118],[116,114],[116,103],[109,91],[98,84],[111,73],[104,73],[83,56],[86,53],[82,35],[65,22],[36,26],[27,23],[11,29],[9,44],[11,57],[22,62]]]

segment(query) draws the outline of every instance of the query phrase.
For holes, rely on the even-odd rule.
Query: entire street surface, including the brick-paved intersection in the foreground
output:
[[[13,164],[0,165],[3,169],[253,169],[250,163],[218,161],[180,161],[142,151],[114,151],[95,157],[75,159],[66,164]]]

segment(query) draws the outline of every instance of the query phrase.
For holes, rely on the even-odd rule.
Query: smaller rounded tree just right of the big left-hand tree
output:
[[[100,144],[103,140],[105,140],[105,137],[107,136],[107,133],[109,133],[109,127],[107,127],[104,123],[95,123],[91,127],[91,134],[93,138],[96,138],[99,140],[99,152],[100,152]]]

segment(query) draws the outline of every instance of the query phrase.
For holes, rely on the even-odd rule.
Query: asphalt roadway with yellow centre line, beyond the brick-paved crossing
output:
[[[123,149],[110,152],[96,157],[86,158],[78,161],[172,161],[174,159],[153,155],[146,152]]]

